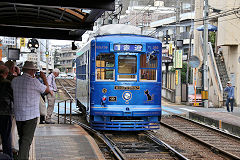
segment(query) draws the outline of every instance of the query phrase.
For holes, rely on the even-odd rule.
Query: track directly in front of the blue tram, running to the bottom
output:
[[[63,117],[62,117],[63,118]],[[67,118],[67,121],[70,119]],[[168,159],[176,160],[187,158],[163,142],[150,132],[99,132],[84,122],[73,120],[87,130],[97,141],[99,148],[106,159],[129,160],[129,159]]]

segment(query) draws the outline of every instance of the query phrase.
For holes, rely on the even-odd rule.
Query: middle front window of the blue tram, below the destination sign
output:
[[[120,55],[118,56],[118,80],[136,81],[137,80],[137,56]]]

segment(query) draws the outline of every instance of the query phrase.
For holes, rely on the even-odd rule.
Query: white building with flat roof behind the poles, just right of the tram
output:
[[[154,36],[162,41],[162,71],[163,71],[163,88],[175,89],[175,76],[171,75],[169,69],[173,66],[173,53],[175,50],[176,40],[176,16],[161,19],[150,24],[152,28],[156,28]],[[180,39],[182,46],[179,48],[183,51],[183,62],[187,61],[190,47],[193,48],[194,36],[190,37],[194,26],[194,12],[187,12],[180,15]],[[191,45],[190,45],[191,41]]]

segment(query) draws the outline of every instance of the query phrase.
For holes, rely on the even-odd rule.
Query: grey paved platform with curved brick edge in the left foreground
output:
[[[30,160],[104,160],[94,139],[80,126],[40,124],[32,142]]]

